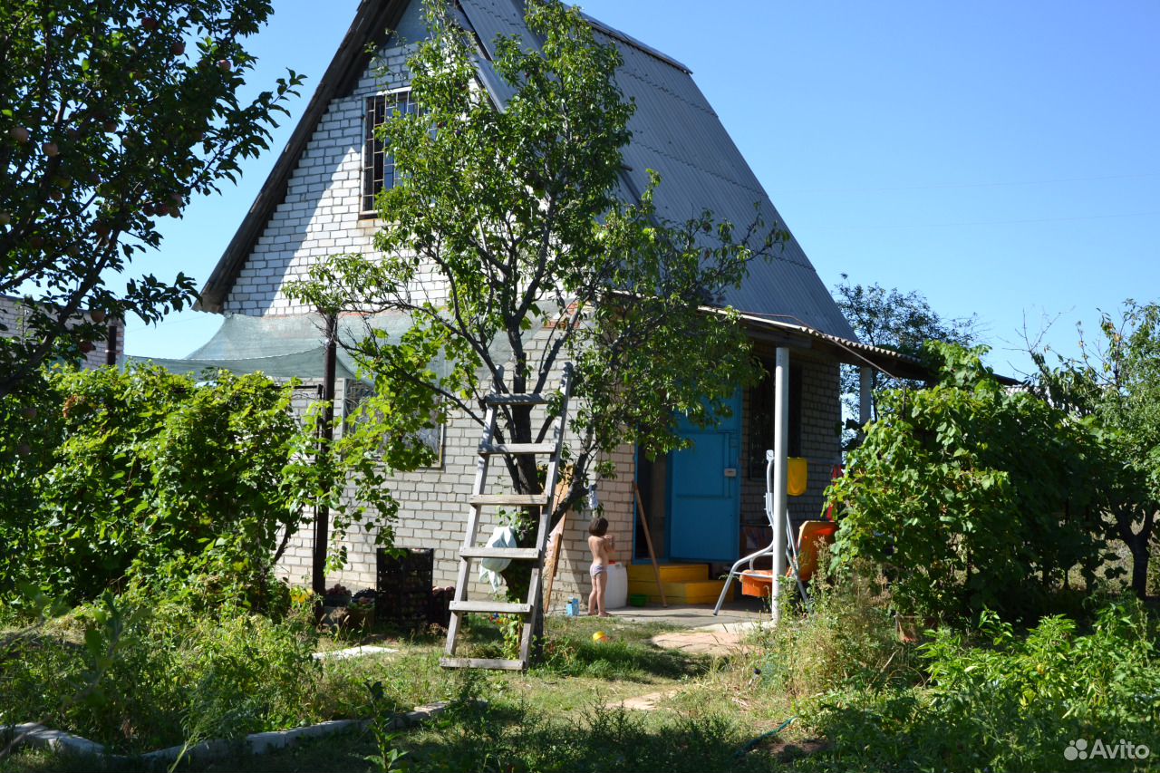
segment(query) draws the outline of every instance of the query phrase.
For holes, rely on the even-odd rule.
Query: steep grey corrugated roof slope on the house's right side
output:
[[[461,7],[490,56],[494,55],[496,35],[534,39],[523,21],[521,0],[461,0]],[[648,183],[647,169],[654,169],[661,176],[657,208],[667,219],[683,222],[708,209],[744,229],[760,212],[767,226],[784,229],[784,219],[688,67],[590,21],[596,39],[619,50],[624,64],[617,72],[617,85],[637,107],[629,123],[632,142],[624,149],[628,189],[643,190]],[[745,283],[730,288],[724,302],[755,315],[795,317],[817,331],[857,340],[792,237],[771,260],[755,262]]]

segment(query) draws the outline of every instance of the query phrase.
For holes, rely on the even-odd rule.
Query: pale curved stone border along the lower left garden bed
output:
[[[391,720],[392,729],[414,727],[438,716],[447,708],[447,703],[430,703],[428,706],[416,706],[414,710],[404,714],[396,714]],[[292,730],[277,730],[273,732],[252,732],[245,738],[212,738],[203,741],[193,746],[169,746],[143,754],[109,754],[102,744],[88,738],[81,738],[63,730],[52,730],[35,722],[24,724],[0,727],[0,736],[13,735],[16,738],[15,749],[21,746],[34,746],[36,749],[48,749],[58,754],[96,756],[115,761],[140,760],[151,765],[173,763],[179,757],[204,763],[229,757],[235,752],[248,752],[251,754],[264,754],[269,751],[287,749],[302,741],[324,738],[339,732],[350,730],[363,730],[370,725],[370,720],[331,720],[319,724],[311,724]]]

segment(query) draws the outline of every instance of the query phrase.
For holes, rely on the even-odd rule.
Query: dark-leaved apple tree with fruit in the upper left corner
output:
[[[270,13],[268,0],[0,3],[0,295],[27,318],[0,331],[0,396],[90,349],[107,317],[155,322],[195,297],[183,273],[121,275],[159,246],[159,218],[266,150],[302,82],[290,71],[238,96],[245,39]]]

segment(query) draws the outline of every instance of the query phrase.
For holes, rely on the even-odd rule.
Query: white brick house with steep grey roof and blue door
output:
[[[455,13],[479,43],[480,86],[502,103],[509,91],[488,62],[496,34],[530,39],[521,0],[461,0]],[[643,189],[646,169],[655,169],[662,176],[658,208],[672,219],[709,208],[744,224],[752,219],[756,202],[767,222],[783,224],[688,67],[596,20],[590,23],[600,42],[618,46],[624,64],[617,81],[637,103],[630,123],[633,140],[624,151],[624,188]],[[387,29],[396,32],[387,35]],[[230,363],[241,370],[261,367],[270,375],[317,375],[320,349],[312,323],[306,322],[311,310],[288,299],[281,288],[327,255],[374,253],[374,194],[391,185],[392,169],[369,132],[384,104],[398,109],[409,104],[405,65],[413,45],[406,41],[423,35],[419,0],[360,5],[287,149],[202,290],[200,309],[226,319],[224,332],[193,355],[190,367]],[[377,53],[372,57],[369,49]],[[376,63],[394,74],[383,75]],[[789,422],[774,420],[770,377],[756,389],[739,390],[731,421],[709,432],[690,429],[695,445],[689,450],[648,462],[638,460],[632,448],[622,448],[614,460],[618,475],[600,482],[600,498],[624,561],[647,561],[640,539],[645,520],[662,562],[713,571],[746,552],[747,537],[767,539],[761,534],[767,522],[764,449],[773,447],[775,431],[784,433],[790,455],[810,461],[809,491],[795,500],[793,513],[817,515],[831,467],[840,458],[840,363],[889,367],[896,374],[914,367],[893,353],[857,342],[793,239],[780,258],[754,266],[745,286],[724,303],[745,312],[747,330],[771,374],[778,356],[788,362],[783,388],[789,389]],[[240,328],[249,332],[233,335]],[[247,353],[239,340],[254,341],[254,351]],[[251,359],[259,348],[271,354],[258,344],[271,340],[280,347],[274,359]],[[353,393],[356,380],[350,369],[343,375],[340,393]],[[436,584],[455,581],[479,434],[470,420],[452,417],[441,436],[432,439],[441,451],[438,465],[399,475],[392,483],[401,503],[396,544],[434,548]],[[645,512],[635,506],[633,482]],[[570,519],[553,606],[586,592],[586,527],[585,519]],[[485,520],[481,533],[490,532]],[[307,580],[310,549],[311,535],[304,533],[288,551],[284,570],[292,580]],[[336,579],[350,587],[374,585],[371,541],[353,534],[347,549],[349,564]],[[674,600],[704,601],[710,595],[716,598],[716,592],[702,586]]]

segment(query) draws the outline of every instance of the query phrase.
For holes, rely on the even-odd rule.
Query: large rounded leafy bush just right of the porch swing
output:
[[[985,348],[929,342],[938,382],[880,396],[882,417],[828,491],[844,513],[835,555],[869,558],[900,612],[1035,615],[1102,557],[1102,453],[1088,426],[1000,384]]]

